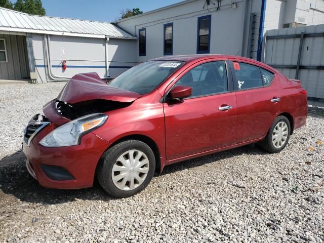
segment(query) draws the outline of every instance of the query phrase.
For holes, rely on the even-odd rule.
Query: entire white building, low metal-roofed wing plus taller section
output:
[[[323,0],[186,0],[113,23],[0,8],[0,79],[41,83],[80,72],[108,78],[164,55],[262,61],[266,30],[323,23]]]

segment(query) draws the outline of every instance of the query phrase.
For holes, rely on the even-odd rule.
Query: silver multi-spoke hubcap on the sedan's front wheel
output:
[[[148,170],[146,154],[137,149],[128,150],[116,159],[112,167],[113,184],[123,191],[133,190],[144,182]]]

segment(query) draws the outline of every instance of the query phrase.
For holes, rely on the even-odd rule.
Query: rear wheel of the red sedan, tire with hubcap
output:
[[[287,128],[285,127],[284,124],[286,124]],[[280,131],[280,126],[281,126],[281,131]],[[279,130],[277,130],[278,127],[279,127]],[[289,138],[290,138],[290,132],[291,132],[291,127],[290,127],[289,119],[283,115],[277,116],[274,119],[274,121],[267,133],[267,136],[259,144],[260,144],[261,148],[267,152],[278,153],[286,147],[286,145],[289,141]],[[287,133],[286,140],[283,141],[284,137],[286,136],[286,133]],[[278,136],[275,137],[274,135],[278,135]],[[277,138],[277,140],[276,140],[276,138]],[[272,140],[274,142],[272,142]],[[280,144],[280,141],[281,141],[281,144]]]

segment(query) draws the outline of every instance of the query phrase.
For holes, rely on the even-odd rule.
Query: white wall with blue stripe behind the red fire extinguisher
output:
[[[113,38],[109,40],[108,60],[111,77],[137,64],[135,46],[134,40]],[[33,36],[33,50],[37,71],[44,82],[46,63],[43,53],[43,35]],[[78,73],[97,72],[100,77],[106,77],[105,39],[51,35],[49,51],[51,70],[56,76],[72,77]],[[62,60],[66,60],[65,71],[61,66]]]

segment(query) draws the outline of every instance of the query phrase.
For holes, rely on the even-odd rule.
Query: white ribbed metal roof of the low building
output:
[[[0,31],[134,39],[111,23],[25,14],[0,8]]]

